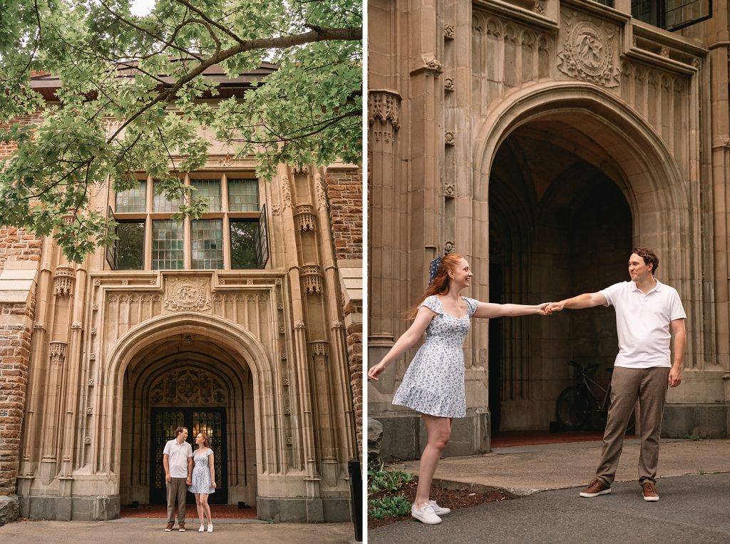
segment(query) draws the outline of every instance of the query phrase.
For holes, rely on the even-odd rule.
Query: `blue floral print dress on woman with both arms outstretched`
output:
[[[457,318],[444,312],[441,299],[426,298],[426,306],[438,315],[426,328],[426,341],[411,361],[393,404],[442,418],[466,417],[464,394],[464,339],[469,334],[469,320],[479,302],[467,299],[467,313]]]

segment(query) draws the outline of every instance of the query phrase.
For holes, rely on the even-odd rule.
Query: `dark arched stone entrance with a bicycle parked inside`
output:
[[[534,303],[597,291],[627,279],[634,245],[655,248],[663,280],[690,294],[683,226],[691,214],[677,162],[656,131],[591,85],[518,94],[477,130],[489,299]],[[596,308],[490,323],[492,432],[548,429],[570,360],[598,363],[597,378],[607,382],[603,368],[618,350],[613,321],[612,309]]]

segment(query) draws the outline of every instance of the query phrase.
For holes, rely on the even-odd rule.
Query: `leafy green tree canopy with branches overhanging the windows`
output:
[[[139,171],[169,199],[189,192],[175,174],[204,165],[201,128],[265,177],[282,162],[361,163],[361,1],[157,0],[143,17],[130,4],[0,0],[0,144],[17,145],[0,162],[0,224],[53,234],[80,262],[113,238],[90,196]],[[266,63],[277,69],[234,96],[204,74]],[[43,77],[60,78],[50,100],[34,90]],[[205,210],[186,202],[181,215]]]

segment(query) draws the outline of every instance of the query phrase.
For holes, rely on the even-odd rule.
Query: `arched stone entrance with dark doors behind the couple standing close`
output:
[[[133,337],[124,342],[127,350],[135,349],[128,353],[120,383],[122,505],[165,502],[162,449],[177,426],[188,428],[191,444],[199,432],[209,436],[218,484],[210,502],[256,505],[262,439],[256,378],[266,374],[266,361],[260,356],[248,364],[237,347],[255,353],[255,343],[243,345],[247,337],[237,329],[230,329],[228,337],[213,334],[204,324],[208,319],[212,329],[215,318],[168,315],[151,327],[157,333],[140,329],[136,344]],[[231,342],[234,336],[241,345]]]

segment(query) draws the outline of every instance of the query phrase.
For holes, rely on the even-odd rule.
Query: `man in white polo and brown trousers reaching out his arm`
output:
[[[638,399],[641,409],[639,483],[645,501],[659,500],[655,484],[661,419],[666,386],[677,387],[682,381],[687,315],[676,289],[665,286],[654,277],[658,266],[659,259],[652,250],[635,248],[629,257],[631,281],[550,305],[553,312],[564,308],[591,308],[599,304],[611,304],[616,310],[618,355],[611,379],[611,406],[601,462],[596,478],[580,493],[580,497],[598,497],[611,492],[626,425]],[[672,334],[675,337],[674,364],[669,359]]]

